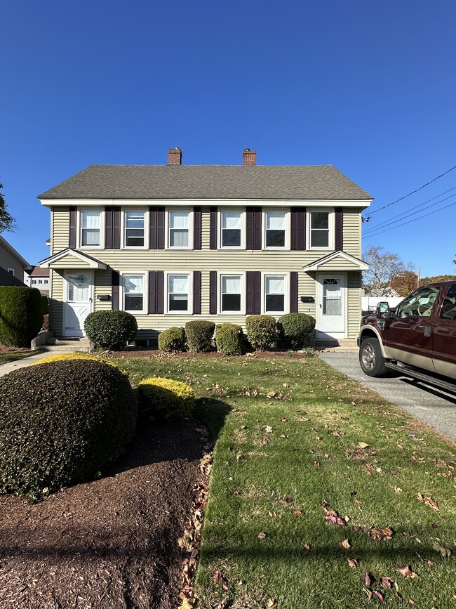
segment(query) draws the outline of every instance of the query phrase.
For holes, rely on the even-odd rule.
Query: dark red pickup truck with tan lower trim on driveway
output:
[[[376,313],[361,321],[358,347],[368,376],[396,369],[443,388],[454,386],[456,281],[424,285],[396,308],[379,303]],[[439,382],[441,376],[446,380]]]

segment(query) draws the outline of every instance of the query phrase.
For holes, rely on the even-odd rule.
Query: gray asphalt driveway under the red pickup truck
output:
[[[318,357],[339,372],[382,395],[385,400],[393,402],[445,436],[456,440],[455,395],[411,381],[405,376],[394,376],[394,373],[382,379],[372,379],[361,371],[358,353],[320,353]]]

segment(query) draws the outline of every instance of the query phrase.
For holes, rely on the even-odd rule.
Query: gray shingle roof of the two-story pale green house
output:
[[[333,165],[90,165],[39,199],[372,199]]]

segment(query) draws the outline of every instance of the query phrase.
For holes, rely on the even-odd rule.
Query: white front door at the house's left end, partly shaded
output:
[[[93,310],[93,273],[65,273],[63,336],[86,336],[84,321]]]

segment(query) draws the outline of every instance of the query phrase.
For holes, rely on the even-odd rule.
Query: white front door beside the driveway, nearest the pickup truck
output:
[[[318,275],[316,336],[319,339],[345,337],[345,276]]]

